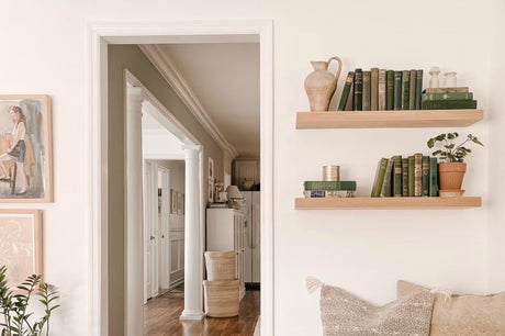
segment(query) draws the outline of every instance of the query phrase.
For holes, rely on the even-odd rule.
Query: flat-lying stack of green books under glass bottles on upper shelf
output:
[[[476,109],[476,100],[467,87],[426,89],[422,98],[423,110]]]

